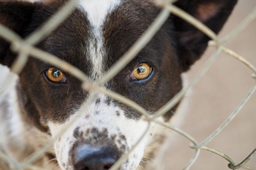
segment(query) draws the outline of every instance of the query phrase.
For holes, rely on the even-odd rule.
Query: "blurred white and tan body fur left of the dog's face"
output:
[[[1,85],[3,84],[0,85],[0,152],[4,152],[10,158],[22,162],[44,146],[50,136],[22,119],[16,89],[18,76],[2,65],[0,65],[0,72],[1,80],[11,77],[4,91],[1,91]],[[42,169],[51,169],[54,161],[47,161],[49,161],[47,157],[42,157],[42,159],[35,162],[35,165],[44,166]]]

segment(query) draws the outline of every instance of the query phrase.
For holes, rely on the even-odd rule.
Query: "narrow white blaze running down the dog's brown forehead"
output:
[[[88,57],[93,64],[91,78],[99,78],[103,74],[103,56],[106,49],[103,46],[103,24],[106,17],[114,8],[120,4],[121,0],[81,0],[80,9],[86,12],[90,22],[90,38],[88,46]]]

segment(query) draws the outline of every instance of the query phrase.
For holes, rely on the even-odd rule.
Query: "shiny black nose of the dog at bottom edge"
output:
[[[114,149],[80,145],[74,149],[73,165],[76,170],[108,170],[119,158]]]

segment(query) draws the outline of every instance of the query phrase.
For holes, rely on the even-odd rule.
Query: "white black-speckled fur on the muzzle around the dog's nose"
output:
[[[95,101],[97,98],[100,98],[100,102],[96,104]],[[107,129],[107,136],[111,139],[111,143],[109,145],[115,145],[120,150],[122,150],[121,148],[124,148],[124,152],[127,152],[132,148],[143,132],[145,132],[147,126],[145,121],[127,119],[124,115],[124,111],[118,106],[113,104],[108,105],[106,101],[104,101],[103,96],[100,97],[100,95],[97,95],[97,98],[95,98],[94,102],[92,102],[84,111],[83,116],[78,118],[68,131],[65,131],[65,134],[61,136],[61,139],[57,140],[54,144],[57,159],[62,169],[73,169],[73,165],[70,164],[71,158],[69,153],[73,144],[76,141],[80,141],[80,139],[74,137],[74,129],[77,127],[79,128],[79,131],[84,134],[93,128],[96,128],[99,132],[103,132],[104,129]],[[119,115],[117,115],[117,112],[119,112]],[[70,124],[70,121],[74,119],[76,115],[77,113],[71,115],[68,121],[64,124],[54,124],[53,122],[50,122],[48,125],[52,136],[56,136],[61,129]],[[91,135],[93,134],[90,134],[90,132],[83,135],[83,140],[87,141],[88,145],[93,144],[93,142],[98,142],[97,140],[99,140],[96,138],[91,139]],[[120,138],[120,135],[123,135],[125,140],[122,140],[123,138]],[[113,136],[116,137],[113,139]],[[132,154],[129,155],[128,161],[124,162],[121,169],[136,169],[143,156],[146,141],[147,139],[144,138],[142,142],[140,142]],[[102,145],[108,144],[103,141]]]

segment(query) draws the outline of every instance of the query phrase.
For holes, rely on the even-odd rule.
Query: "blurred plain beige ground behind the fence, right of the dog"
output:
[[[256,6],[254,0],[240,0],[219,38],[224,37],[245,18]],[[256,21],[253,21],[235,39],[227,44],[252,64],[256,65]],[[204,62],[214,52],[210,47],[201,61],[188,72],[191,80]],[[192,135],[198,142],[204,141],[238,106],[254,84],[252,71],[227,54],[219,56],[208,73],[186,96],[188,112],[183,118],[181,129]],[[256,94],[235,119],[207,146],[228,155],[236,163],[244,160],[256,148]],[[172,135],[165,159],[156,169],[183,169],[195,151],[189,148],[189,141],[180,135]],[[247,165],[256,168],[256,156]],[[229,169],[228,161],[208,151],[201,151],[191,170]]]

